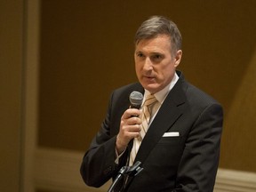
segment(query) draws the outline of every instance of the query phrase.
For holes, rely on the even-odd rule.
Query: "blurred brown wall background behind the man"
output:
[[[256,190],[256,1],[0,0],[0,190],[106,191],[79,175],[110,93],[137,81],[151,15],[183,36],[179,69],[225,111],[215,191]]]

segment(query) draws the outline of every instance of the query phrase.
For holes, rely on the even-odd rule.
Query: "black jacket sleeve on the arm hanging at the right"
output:
[[[219,104],[205,108],[188,134],[175,191],[212,192],[220,157],[223,111]]]

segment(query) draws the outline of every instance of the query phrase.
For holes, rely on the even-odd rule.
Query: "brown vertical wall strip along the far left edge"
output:
[[[0,2],[0,190],[20,191],[22,1]]]

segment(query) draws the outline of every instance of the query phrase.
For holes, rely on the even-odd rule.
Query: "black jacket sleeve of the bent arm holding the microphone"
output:
[[[91,187],[99,188],[109,179],[116,177],[121,163],[116,160],[116,135],[111,135],[111,105],[109,101],[108,113],[101,124],[100,131],[93,138],[89,150],[85,153],[80,172],[84,182]],[[111,127],[112,129],[113,127]],[[117,128],[116,128],[117,129]],[[119,127],[118,127],[119,129]],[[125,156],[125,155],[124,155]],[[124,157],[123,157],[124,158]]]

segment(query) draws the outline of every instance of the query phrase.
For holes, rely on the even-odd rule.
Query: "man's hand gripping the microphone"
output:
[[[128,108],[121,117],[120,129],[116,136],[116,150],[121,154],[130,140],[140,136],[140,110]]]

